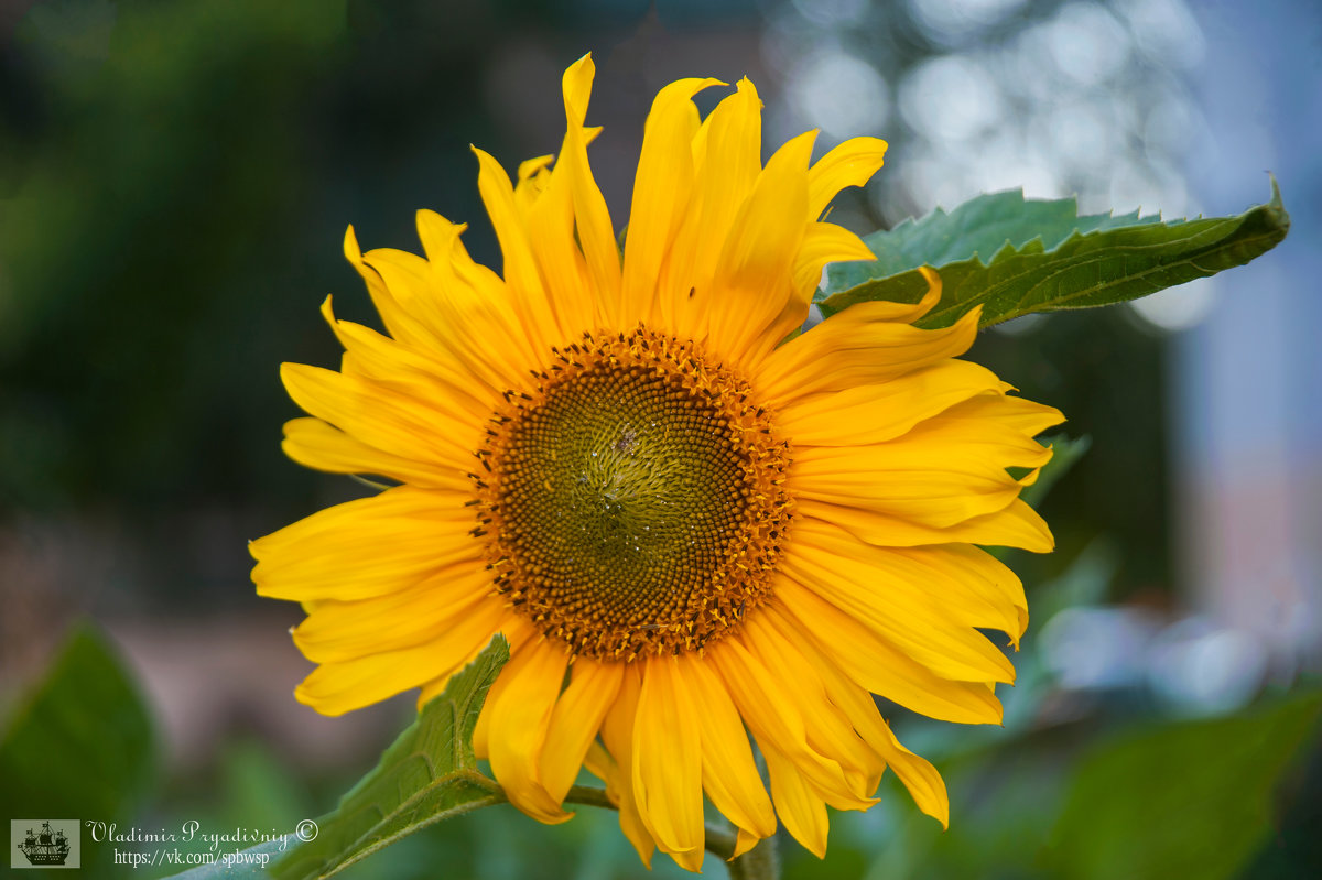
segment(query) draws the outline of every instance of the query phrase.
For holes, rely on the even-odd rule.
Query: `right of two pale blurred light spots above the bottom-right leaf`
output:
[[[1266,665],[1266,650],[1248,633],[1191,617],[1153,641],[1149,678],[1153,691],[1178,710],[1222,714],[1253,699]]]

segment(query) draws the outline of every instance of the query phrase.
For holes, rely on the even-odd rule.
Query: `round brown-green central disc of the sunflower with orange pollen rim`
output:
[[[639,328],[554,350],[475,476],[496,588],[578,654],[695,650],[769,595],[788,447],[746,382]]]

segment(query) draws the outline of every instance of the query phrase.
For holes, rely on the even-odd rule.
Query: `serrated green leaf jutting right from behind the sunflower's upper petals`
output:
[[[817,293],[822,314],[857,303],[916,303],[932,266],[941,299],[919,326],[954,324],[982,307],[981,326],[1032,312],[1110,305],[1215,275],[1276,247],[1290,229],[1281,190],[1239,217],[1161,222],[1138,213],[1076,217],[1075,200],[993,193],[937,209],[865,240],[875,262],[839,263]]]

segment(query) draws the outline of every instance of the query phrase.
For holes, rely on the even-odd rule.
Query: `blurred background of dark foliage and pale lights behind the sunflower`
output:
[[[374,322],[349,223],[414,248],[431,207],[498,267],[468,144],[509,169],[554,152],[559,73],[587,50],[616,225],[650,99],[686,75],[751,77],[767,152],[810,127],[821,151],[890,140],[836,203],[861,233],[1017,186],[1083,213],[1237,214],[1276,174],[1294,226],[1257,263],[980,338],[976,359],[1091,439],[1042,502],[1058,552],[1013,560],[1034,622],[1006,724],[894,712],[947,774],[951,831],[886,785],[833,819],[825,863],[781,847],[788,877],[1317,876],[1314,0],[0,4],[0,748],[91,620],[156,744],[149,781],[103,785],[95,818],[283,832],[374,764],[411,699],[342,719],[295,703],[297,609],[249,581],[249,539],[366,492],[282,456],[297,412],[278,365],[337,362],[327,293]],[[90,846],[85,869],[127,872]],[[559,828],[488,810],[354,871],[645,876],[586,809]]]

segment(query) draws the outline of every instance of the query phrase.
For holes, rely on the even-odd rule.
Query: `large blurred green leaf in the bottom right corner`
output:
[[[1235,876],[1266,840],[1276,784],[1319,714],[1311,692],[1110,741],[1080,762],[1043,860],[1079,880]]]

